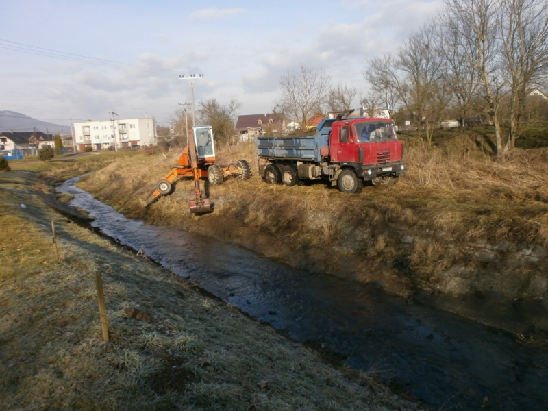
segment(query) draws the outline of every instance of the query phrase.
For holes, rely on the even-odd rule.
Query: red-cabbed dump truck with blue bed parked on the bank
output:
[[[255,144],[259,173],[269,184],[294,186],[304,179],[323,179],[353,193],[364,182],[395,184],[407,171],[403,143],[390,119],[339,114],[323,120],[314,136],[259,137]]]

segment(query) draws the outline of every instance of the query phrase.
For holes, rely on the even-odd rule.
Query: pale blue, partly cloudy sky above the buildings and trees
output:
[[[69,119],[155,117],[166,125],[203,74],[196,105],[236,99],[272,112],[302,64],[366,97],[368,60],[396,52],[441,0],[2,0],[0,110]],[[55,56],[55,57],[53,57]]]

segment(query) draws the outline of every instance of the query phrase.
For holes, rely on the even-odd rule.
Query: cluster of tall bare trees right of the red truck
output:
[[[446,0],[397,53],[369,62],[373,99],[400,105],[428,142],[448,111],[462,125],[486,113],[503,155],[520,134],[528,88],[547,85],[547,11],[543,0]]]

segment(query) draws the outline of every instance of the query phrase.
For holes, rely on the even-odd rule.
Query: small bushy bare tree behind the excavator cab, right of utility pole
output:
[[[230,144],[230,138],[236,134],[237,112],[241,107],[242,103],[236,99],[225,105],[221,105],[216,99],[210,99],[199,102],[198,114],[201,123],[211,125],[217,142]]]

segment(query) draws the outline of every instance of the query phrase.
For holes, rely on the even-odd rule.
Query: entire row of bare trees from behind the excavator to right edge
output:
[[[527,90],[548,84],[548,3],[545,0],[445,0],[443,10],[412,34],[395,53],[370,60],[363,71],[370,94],[366,108],[383,106],[419,127],[428,143],[441,121],[488,117],[494,151],[514,147],[526,113]],[[317,114],[351,108],[356,87],[338,83],[307,66],[280,77],[274,111],[301,127]],[[241,103],[216,99],[198,104],[200,123],[212,125],[219,142],[229,142]],[[188,116],[190,121],[191,116]],[[184,110],[172,118],[186,130]],[[506,126],[506,127],[505,127]],[[503,130],[508,130],[504,132]],[[186,142],[186,133],[180,133]]]

